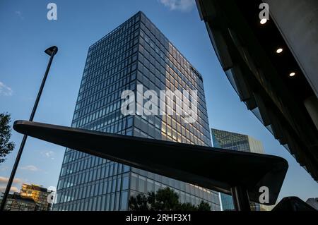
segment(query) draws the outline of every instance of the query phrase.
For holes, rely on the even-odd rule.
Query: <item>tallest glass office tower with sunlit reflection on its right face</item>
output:
[[[122,92],[137,96],[137,85],[143,92],[197,90],[196,122],[173,115],[124,116]],[[141,12],[89,48],[72,126],[211,146],[201,75]],[[204,200],[220,210],[214,191],[71,149],[65,152],[54,210],[127,210],[130,196],[165,187],[175,190],[181,202]]]

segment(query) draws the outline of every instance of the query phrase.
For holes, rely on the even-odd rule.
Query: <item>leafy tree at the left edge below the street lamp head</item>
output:
[[[11,121],[10,114],[0,114],[0,163],[4,162],[7,154],[12,152],[14,143],[10,142],[11,128],[9,123]]]

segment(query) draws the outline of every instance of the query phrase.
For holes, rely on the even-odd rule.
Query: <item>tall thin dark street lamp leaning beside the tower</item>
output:
[[[49,73],[49,68],[51,67],[51,63],[52,63],[52,60],[54,58],[54,55],[57,54],[57,50],[58,50],[58,48],[56,46],[49,47],[48,49],[45,50],[45,53],[50,56],[49,63],[47,64],[47,70],[45,71],[45,75],[43,77],[43,80],[42,80],[42,83],[40,86],[40,90],[37,93],[37,99],[35,99],[35,104],[33,106],[33,110],[32,110],[29,121],[33,121],[35,111],[37,110],[37,105],[39,104],[42,90],[43,90],[43,87],[45,85],[45,80],[47,80],[47,74]],[[6,205],[6,199],[8,198],[8,193],[10,192],[13,178],[16,175],[16,170],[18,169],[18,164],[20,162],[21,154],[23,152],[23,148],[24,148],[24,145],[25,145],[27,138],[28,138],[28,135],[23,135],[23,139],[22,139],[19,151],[18,151],[18,155],[16,156],[16,162],[14,162],[13,169],[11,171],[11,175],[10,175],[10,178],[8,180],[8,184],[6,186],[6,191],[4,192],[4,197],[2,198],[2,201],[1,201],[0,212],[4,211],[4,206]]]

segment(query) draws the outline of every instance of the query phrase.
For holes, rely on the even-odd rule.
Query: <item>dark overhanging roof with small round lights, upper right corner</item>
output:
[[[264,2],[270,18],[261,24]],[[196,5],[240,100],[318,181],[318,1],[196,0]]]

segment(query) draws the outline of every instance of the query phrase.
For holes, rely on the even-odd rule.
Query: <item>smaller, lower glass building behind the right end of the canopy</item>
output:
[[[211,132],[213,147],[264,154],[264,147],[261,142],[248,135],[216,129],[211,129]],[[220,199],[223,211],[234,210],[232,196],[220,193]],[[260,211],[260,205],[258,203],[250,202],[250,205],[253,211]]]

